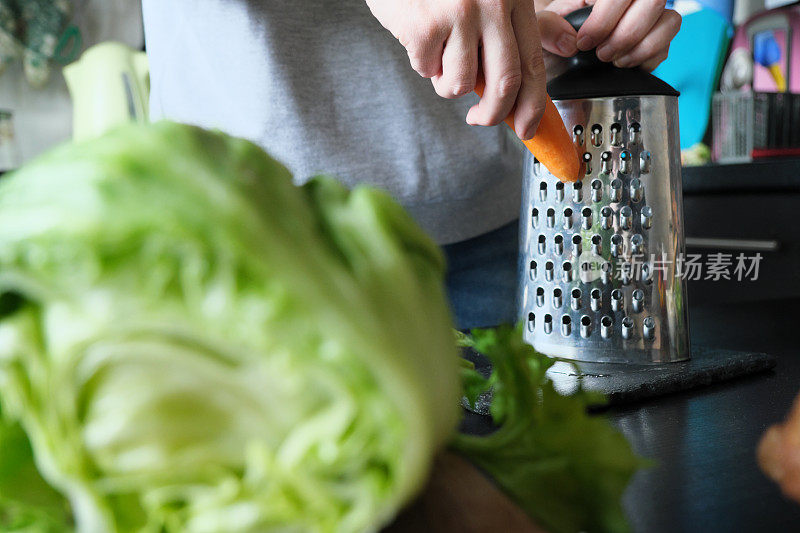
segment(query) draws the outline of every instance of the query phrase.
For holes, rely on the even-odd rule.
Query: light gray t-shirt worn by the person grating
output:
[[[388,190],[440,243],[519,211],[521,144],[464,122],[364,0],[144,0],[151,113],[251,139],[298,183]]]

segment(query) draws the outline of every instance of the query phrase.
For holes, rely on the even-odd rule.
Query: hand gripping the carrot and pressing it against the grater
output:
[[[366,0],[375,18],[406,48],[411,66],[436,93],[458,98],[486,89],[469,124],[494,126],[512,111],[517,135],[530,139],[544,113],[545,70],[533,0]],[[568,57],[576,32],[563,18],[542,26],[547,49]],[[480,68],[479,68],[480,67]]]

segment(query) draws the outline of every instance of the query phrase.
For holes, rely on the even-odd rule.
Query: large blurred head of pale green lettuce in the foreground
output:
[[[0,456],[23,428],[82,531],[379,528],[457,421],[443,272],[386,194],[243,140],[61,147],[0,180]],[[69,527],[0,465],[0,526]]]

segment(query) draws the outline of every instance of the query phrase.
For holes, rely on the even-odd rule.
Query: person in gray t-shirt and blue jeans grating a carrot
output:
[[[587,4],[576,32],[563,17]],[[144,0],[143,15],[153,118],[251,139],[298,183],[387,190],[443,246],[462,329],[516,319],[515,137],[536,132],[546,57],[653,69],[680,26],[665,0]],[[476,127],[509,113],[514,132]]]

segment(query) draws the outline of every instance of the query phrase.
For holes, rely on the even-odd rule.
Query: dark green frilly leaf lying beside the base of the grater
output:
[[[492,388],[488,436],[458,435],[453,448],[482,468],[551,533],[627,531],[621,497],[644,462],[605,419],[589,416],[585,391],[562,396],[545,373],[553,360],[520,328],[475,330],[460,344],[486,355],[488,379],[462,369],[468,397]],[[471,374],[470,374],[471,372]]]

